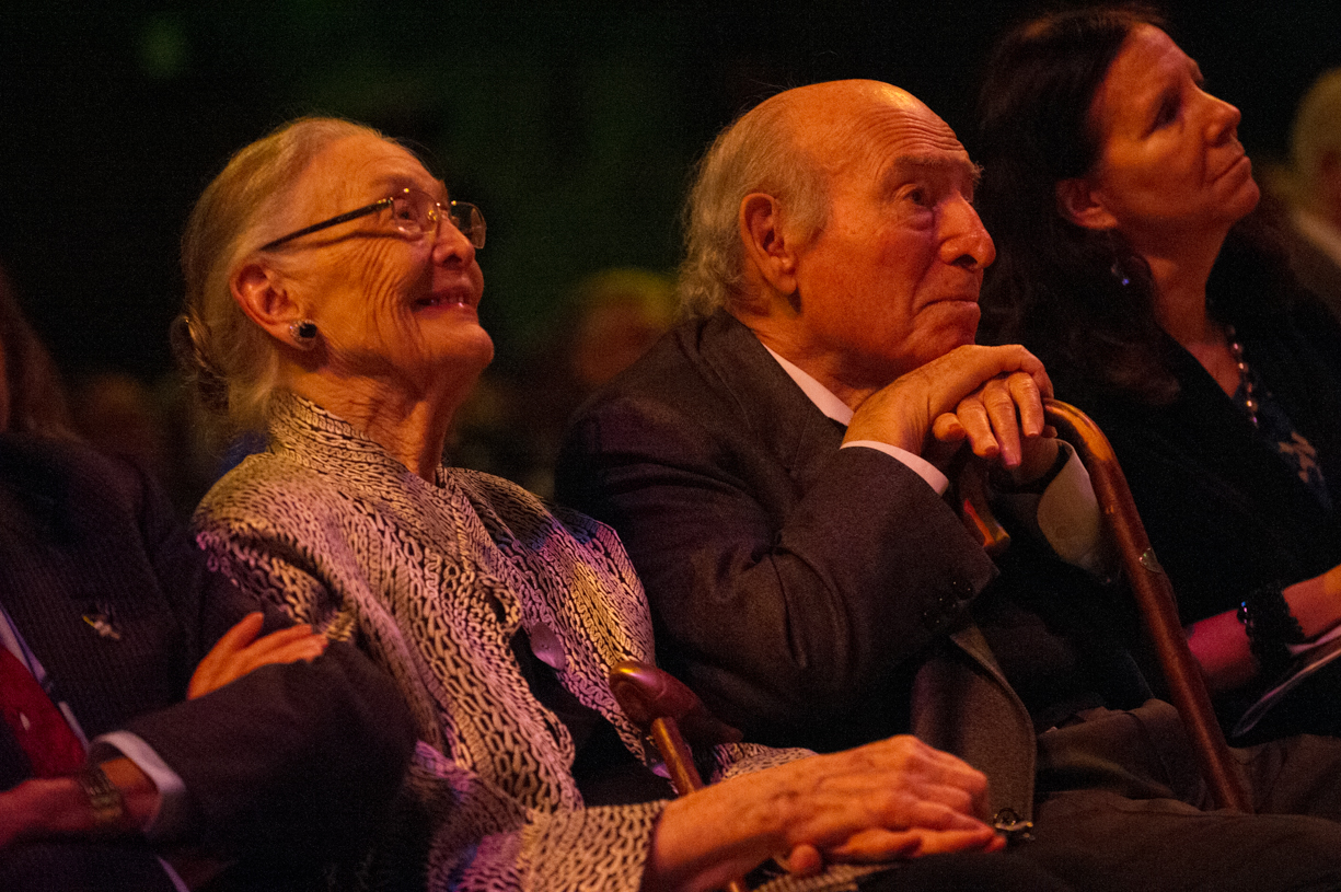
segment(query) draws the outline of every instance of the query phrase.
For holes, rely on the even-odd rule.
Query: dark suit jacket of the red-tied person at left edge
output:
[[[90,739],[131,731],[182,778],[190,832],[180,842],[240,858],[240,877],[275,883],[280,865],[359,850],[398,786],[409,718],[353,648],[184,699],[200,657],[256,608],[205,570],[168,504],[126,464],[0,436],[0,602]],[[121,640],[99,636],[83,620],[93,613],[110,616]],[[0,723],[0,786],[25,774]],[[115,888],[153,872],[145,846],[54,845],[0,854],[0,879],[34,862],[42,888]]]

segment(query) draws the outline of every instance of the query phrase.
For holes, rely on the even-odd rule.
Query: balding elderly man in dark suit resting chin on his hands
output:
[[[1181,723],[1122,671],[1105,593],[1014,546],[994,566],[941,496],[967,437],[1061,545],[1054,491],[1088,483],[1045,435],[1039,362],[974,345],[994,256],[976,178],[885,83],[748,111],[689,199],[696,317],[579,412],[561,499],[616,527],[658,655],[747,734],[913,731],[983,770],[998,826],[1033,822],[1018,854],[1080,888],[1337,888],[1341,825],[1282,813],[1341,816],[1341,742],[1240,751],[1275,814],[1200,812]]]

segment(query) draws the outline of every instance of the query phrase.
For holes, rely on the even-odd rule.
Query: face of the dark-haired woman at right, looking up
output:
[[[1203,90],[1202,71],[1153,25],[1133,31],[1100,85],[1090,127],[1093,196],[1137,249],[1227,229],[1257,207],[1239,110]]]

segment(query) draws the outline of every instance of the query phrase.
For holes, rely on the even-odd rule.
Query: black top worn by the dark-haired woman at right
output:
[[[1254,425],[1240,401],[1172,338],[1161,355],[1179,384],[1168,405],[1114,393],[1049,362],[1047,345],[1025,346],[1047,362],[1058,398],[1089,413],[1108,435],[1132,488],[1151,545],[1173,585],[1184,624],[1238,608],[1262,586],[1290,585],[1341,563],[1341,330],[1307,300],[1224,321],[1235,329],[1265,410]],[[1273,417],[1274,416],[1274,417]],[[1297,432],[1306,445],[1279,440]],[[1283,433],[1282,433],[1283,432]],[[1290,455],[1293,452],[1293,455]],[[1302,467],[1301,467],[1302,461]],[[1311,480],[1301,469],[1316,463]],[[1219,695],[1226,727],[1275,681],[1258,677]],[[1341,679],[1324,677],[1294,698],[1334,699]],[[1333,710],[1301,707],[1259,738],[1310,730],[1337,732]]]

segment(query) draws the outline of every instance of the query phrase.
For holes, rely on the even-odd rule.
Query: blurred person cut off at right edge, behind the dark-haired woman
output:
[[[1341,68],[1299,101],[1290,133],[1290,262],[1299,282],[1341,318]]]

